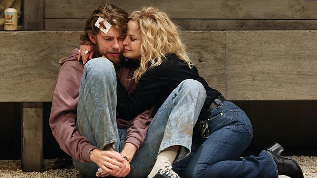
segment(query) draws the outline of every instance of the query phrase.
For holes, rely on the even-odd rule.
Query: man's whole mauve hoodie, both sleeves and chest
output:
[[[59,61],[61,68],[55,83],[49,124],[53,136],[63,151],[76,160],[89,162],[90,150],[98,147],[91,145],[76,129],[79,85],[84,68],[82,62],[77,61],[78,50],[79,48],[74,49],[70,56]],[[133,77],[135,69],[136,65],[129,65],[128,62],[116,71],[117,77],[129,93],[132,93],[136,87],[134,80],[129,80]],[[144,143],[148,125],[152,120],[151,114],[152,110],[146,110],[128,124],[127,121],[117,118],[118,128],[127,129],[126,142],[132,143],[138,150]]]

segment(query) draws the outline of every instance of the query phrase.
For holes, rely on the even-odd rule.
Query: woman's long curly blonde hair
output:
[[[186,47],[179,37],[179,28],[158,8],[144,7],[140,11],[131,13],[128,21],[135,21],[141,33],[141,62],[140,67],[134,72],[134,80],[139,79],[144,73],[154,66],[159,66],[166,60],[167,54],[175,54],[179,59],[193,67]]]

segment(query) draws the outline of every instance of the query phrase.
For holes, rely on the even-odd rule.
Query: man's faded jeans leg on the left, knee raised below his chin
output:
[[[76,127],[89,143],[103,149],[112,144],[119,150],[116,122],[116,72],[105,58],[96,58],[85,64],[79,87]],[[75,168],[87,178],[95,178],[98,166],[94,162],[73,159]]]

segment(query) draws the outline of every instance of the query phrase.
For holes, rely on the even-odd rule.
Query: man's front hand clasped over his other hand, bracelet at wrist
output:
[[[90,160],[95,162],[103,171],[113,174],[124,166],[126,161],[120,153],[116,151],[101,151],[94,149]]]

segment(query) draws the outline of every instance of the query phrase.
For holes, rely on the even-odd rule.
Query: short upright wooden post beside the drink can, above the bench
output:
[[[44,29],[44,0],[24,0],[24,30]]]

